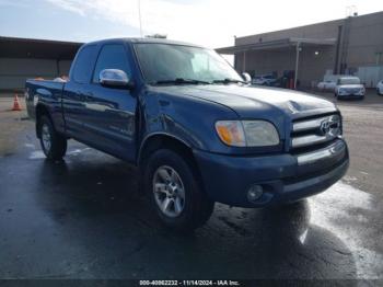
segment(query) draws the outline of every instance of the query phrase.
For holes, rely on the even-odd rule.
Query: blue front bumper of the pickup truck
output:
[[[231,157],[195,150],[208,196],[219,203],[240,207],[263,207],[295,202],[321,193],[344,176],[349,165],[343,139],[304,154]],[[253,185],[264,194],[247,199]]]

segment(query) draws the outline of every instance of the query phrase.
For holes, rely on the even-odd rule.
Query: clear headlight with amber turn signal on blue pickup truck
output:
[[[219,120],[216,130],[228,146],[266,147],[279,144],[277,129],[266,120]]]

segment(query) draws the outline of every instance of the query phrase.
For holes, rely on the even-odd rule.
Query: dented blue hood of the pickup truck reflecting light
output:
[[[162,92],[204,99],[232,108],[240,117],[254,118],[285,114],[298,118],[337,108],[328,101],[306,93],[277,88],[241,87],[237,84],[161,87]]]

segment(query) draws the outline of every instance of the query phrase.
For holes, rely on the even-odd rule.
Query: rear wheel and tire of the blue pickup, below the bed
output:
[[[67,139],[55,130],[47,116],[38,120],[39,144],[48,160],[61,160],[67,152]]]

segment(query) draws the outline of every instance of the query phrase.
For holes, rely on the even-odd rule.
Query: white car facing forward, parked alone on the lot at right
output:
[[[337,99],[364,99],[365,89],[358,77],[341,77],[335,88]]]

